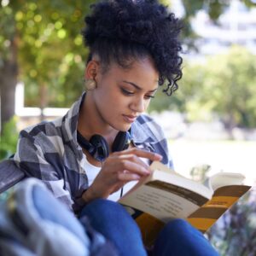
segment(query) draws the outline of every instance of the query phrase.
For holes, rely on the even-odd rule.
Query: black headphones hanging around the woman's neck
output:
[[[77,138],[79,145],[88,151],[88,153],[96,160],[102,162],[106,160],[109,155],[108,143],[104,137],[95,134],[90,137],[90,141],[85,139],[82,134],[77,131]],[[112,151],[122,151],[129,147],[131,143],[131,134],[129,131],[119,131],[115,137],[112,145]]]

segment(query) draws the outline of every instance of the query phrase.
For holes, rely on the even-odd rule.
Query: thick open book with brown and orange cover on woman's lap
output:
[[[146,246],[165,223],[184,218],[205,232],[251,186],[240,173],[219,172],[205,183],[195,182],[168,169],[160,162],[150,166],[152,174],[137,183],[120,200],[142,230]]]

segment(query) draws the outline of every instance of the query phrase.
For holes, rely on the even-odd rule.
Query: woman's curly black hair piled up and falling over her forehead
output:
[[[157,0],[105,0],[91,5],[82,32],[84,44],[108,66],[116,61],[129,67],[131,61],[151,56],[160,73],[159,84],[168,96],[182,78],[180,20]],[[107,67],[106,66],[106,67]]]

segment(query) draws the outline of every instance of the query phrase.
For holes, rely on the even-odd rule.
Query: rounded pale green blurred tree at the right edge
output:
[[[235,126],[256,126],[256,56],[233,45],[225,55],[210,58],[205,66],[201,108],[211,106],[228,131]]]

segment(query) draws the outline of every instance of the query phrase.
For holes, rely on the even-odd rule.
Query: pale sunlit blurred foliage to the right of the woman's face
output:
[[[186,113],[188,121],[211,120],[215,113],[228,130],[255,127],[255,73],[256,56],[233,45],[226,54],[208,57],[202,63],[184,63],[180,88],[169,104],[167,96],[159,94],[150,110],[177,110]]]

